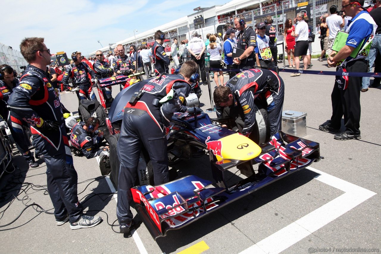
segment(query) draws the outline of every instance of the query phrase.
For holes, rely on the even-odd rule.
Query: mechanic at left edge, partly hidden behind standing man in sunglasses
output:
[[[27,135],[22,129],[22,126],[27,126],[27,123],[16,113],[10,112],[7,107],[7,101],[18,84],[19,80],[16,78],[16,71],[11,66],[2,64],[0,66],[0,129],[9,127],[17,149],[29,166],[38,167],[33,154],[29,151],[30,141],[26,139]]]

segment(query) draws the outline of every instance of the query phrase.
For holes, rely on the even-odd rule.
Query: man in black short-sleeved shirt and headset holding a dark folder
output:
[[[253,29],[250,29],[242,15],[234,17],[234,26],[237,29],[237,48],[245,50],[242,55],[235,57],[233,63],[237,64],[240,69],[250,69],[255,65],[254,48],[257,43],[257,36]]]

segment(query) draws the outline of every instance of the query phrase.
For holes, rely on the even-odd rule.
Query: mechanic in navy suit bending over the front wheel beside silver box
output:
[[[281,129],[283,99],[282,78],[267,69],[242,71],[213,93],[217,116],[236,120],[240,133],[256,143],[267,141],[266,117],[261,116],[258,108],[266,109],[270,135],[273,135]],[[258,133],[254,130],[255,123]]]

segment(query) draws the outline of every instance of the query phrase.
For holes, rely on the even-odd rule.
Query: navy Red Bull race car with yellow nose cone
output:
[[[130,92],[126,90],[125,95],[120,96],[126,98],[139,87],[141,85],[137,83],[130,87]],[[123,118],[123,109],[115,110],[117,101],[115,98],[109,114],[114,133]],[[279,131],[267,143],[257,145],[249,138],[219,126],[223,120],[210,119],[200,108],[189,108],[186,113],[174,113],[170,126],[167,146],[170,164],[209,154],[213,180],[205,180],[202,175],[188,175],[153,186],[152,165],[146,153],[142,153],[144,166],[138,172],[140,183],[131,191],[134,208],[155,240],[166,236],[168,230],[182,228],[321,159],[319,143],[314,141]],[[258,166],[256,170],[255,164]],[[246,178],[232,180],[227,177],[232,174],[229,169],[234,167]],[[111,169],[114,178],[117,169]]]

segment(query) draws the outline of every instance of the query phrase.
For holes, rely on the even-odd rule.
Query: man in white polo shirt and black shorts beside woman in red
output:
[[[299,12],[296,14],[297,25],[295,31],[291,33],[295,37],[295,66],[296,70],[299,70],[299,56],[302,56],[304,70],[307,69],[308,59],[307,59],[307,50],[308,50],[308,24],[304,21],[304,13]],[[291,77],[300,76],[300,73],[293,73]]]

